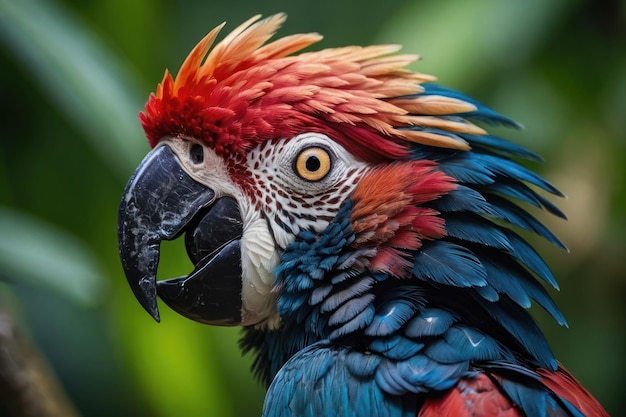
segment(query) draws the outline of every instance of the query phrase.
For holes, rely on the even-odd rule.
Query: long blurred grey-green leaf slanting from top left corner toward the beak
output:
[[[46,1],[1,2],[0,42],[125,178],[147,150],[130,68],[69,11]]]

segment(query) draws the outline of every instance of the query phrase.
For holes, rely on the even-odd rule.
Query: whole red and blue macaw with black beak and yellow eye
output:
[[[519,125],[395,45],[270,41],[284,20],[215,28],[140,113],[118,239],[141,305],[242,326],[264,416],[607,416],[527,310],[565,324],[517,232],[564,245],[522,206],[564,215],[484,128]],[[183,234],[193,271],[157,282]]]

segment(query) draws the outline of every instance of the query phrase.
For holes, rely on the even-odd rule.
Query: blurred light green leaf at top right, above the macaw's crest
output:
[[[419,71],[467,88],[480,77],[519,66],[541,45],[564,0],[407,2],[387,20],[379,41],[420,54]]]

